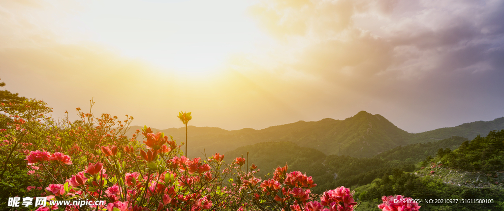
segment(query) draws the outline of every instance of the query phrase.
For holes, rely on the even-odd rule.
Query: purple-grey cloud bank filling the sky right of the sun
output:
[[[276,0],[262,1],[253,11],[258,24],[282,43],[280,49],[297,52],[276,68],[325,81],[327,89],[352,90],[353,95],[375,102],[375,112],[393,120],[400,119],[394,112],[404,110],[423,113],[420,122],[442,126],[450,122],[442,118],[464,119],[463,123],[477,120],[478,115],[504,114],[488,104],[487,112],[477,110],[482,104],[470,102],[504,101],[504,94],[495,91],[504,88],[497,81],[504,77],[502,9],[502,1],[340,0],[290,5]],[[333,105],[342,96],[328,95],[335,99],[329,100]]]

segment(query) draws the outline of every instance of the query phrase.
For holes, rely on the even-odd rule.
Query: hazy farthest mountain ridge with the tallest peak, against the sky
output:
[[[140,126],[132,126],[133,133]],[[407,144],[462,136],[468,139],[485,135],[490,130],[504,129],[504,117],[493,121],[477,121],[455,127],[421,133],[408,133],[380,114],[360,111],[345,120],[325,118],[320,121],[298,121],[265,129],[225,130],[218,127],[188,126],[188,157],[203,157],[262,142],[291,142],[299,147],[319,150],[326,155],[372,157]],[[172,135],[178,143],[185,140],[185,128],[159,130]]]

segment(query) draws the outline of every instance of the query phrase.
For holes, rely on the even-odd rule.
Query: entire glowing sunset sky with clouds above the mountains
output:
[[[0,1],[0,79],[133,125],[262,129],[364,110],[408,132],[504,116],[504,1]]]

